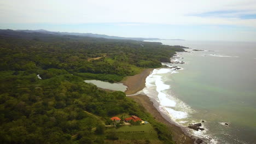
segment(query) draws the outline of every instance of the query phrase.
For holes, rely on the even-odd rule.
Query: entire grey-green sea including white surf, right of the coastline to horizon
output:
[[[210,143],[256,143],[256,43],[155,42],[204,50],[179,52],[185,64],[166,64],[182,70],[155,69],[148,76],[143,91],[156,108]],[[205,130],[187,129],[201,121]]]

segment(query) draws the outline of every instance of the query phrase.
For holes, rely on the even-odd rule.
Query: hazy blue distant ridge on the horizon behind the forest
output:
[[[83,37],[92,37],[92,38],[106,38],[106,39],[130,39],[130,40],[161,40],[159,38],[125,38],[125,37],[115,37],[105,34],[94,34],[94,33],[68,33],[68,32],[50,32],[46,31],[44,29],[38,29],[38,30],[16,30],[19,32],[26,32],[26,33],[44,33],[44,34],[54,34],[54,35],[77,35],[77,36],[83,36]]]

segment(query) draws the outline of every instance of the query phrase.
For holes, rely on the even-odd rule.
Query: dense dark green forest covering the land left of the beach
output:
[[[159,140],[172,143],[165,125],[125,93],[83,80],[121,81],[160,67],[182,48],[0,30],[0,143],[104,143],[103,122],[121,113],[146,119]]]

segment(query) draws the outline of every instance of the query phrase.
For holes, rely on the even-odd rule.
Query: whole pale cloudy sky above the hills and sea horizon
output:
[[[256,1],[2,0],[0,29],[256,41]]]

